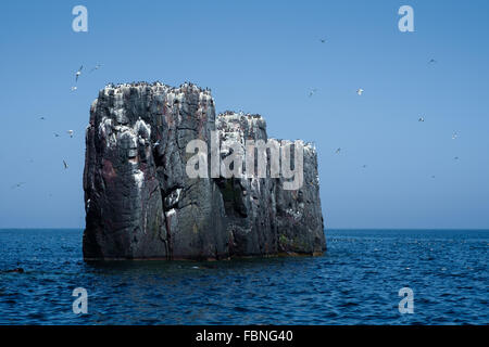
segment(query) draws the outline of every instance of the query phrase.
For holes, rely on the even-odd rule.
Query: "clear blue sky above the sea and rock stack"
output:
[[[138,80],[210,87],[217,111],[314,141],[326,228],[489,228],[489,1],[18,0],[0,30],[0,228],[85,226],[90,103]]]

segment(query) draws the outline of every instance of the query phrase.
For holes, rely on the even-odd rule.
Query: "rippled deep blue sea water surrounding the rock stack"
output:
[[[489,231],[327,230],[322,257],[98,264],[82,234],[0,230],[0,270],[25,270],[0,273],[0,324],[489,323]]]

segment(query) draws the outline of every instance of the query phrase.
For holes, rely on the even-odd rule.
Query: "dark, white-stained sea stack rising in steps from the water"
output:
[[[187,149],[193,140],[208,145],[201,156],[211,164],[208,177],[187,172],[196,156]],[[263,178],[251,170],[213,176],[213,158],[221,163],[235,155],[244,162],[248,140],[268,141],[280,154],[292,144],[267,139],[259,115],[216,117],[210,91],[192,83],[105,87],[91,105],[86,132],[85,259],[322,254],[326,242],[315,149],[302,141],[290,146],[303,149],[288,152],[292,163],[300,157],[293,153],[303,157],[302,184],[294,190],[284,188],[291,179],[283,176]],[[269,174],[272,150],[262,154]],[[287,160],[280,156],[278,163]]]

